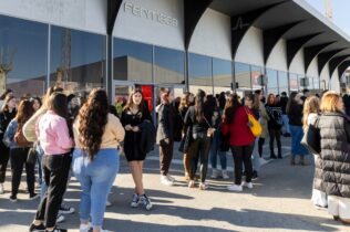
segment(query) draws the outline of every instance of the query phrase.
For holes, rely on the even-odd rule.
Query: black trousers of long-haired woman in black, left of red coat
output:
[[[189,178],[191,180],[195,179],[198,160],[200,157],[200,181],[205,182],[207,171],[208,171],[208,159],[210,151],[210,138],[207,137],[206,133],[200,135],[192,143],[191,145],[191,171]]]

